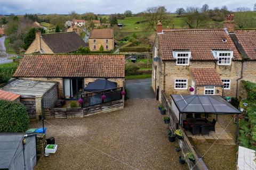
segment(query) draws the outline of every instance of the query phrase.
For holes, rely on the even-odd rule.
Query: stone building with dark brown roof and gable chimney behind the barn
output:
[[[36,31],[36,38],[28,47],[25,54],[57,54],[75,52],[79,47],[88,45],[76,32],[45,33]]]

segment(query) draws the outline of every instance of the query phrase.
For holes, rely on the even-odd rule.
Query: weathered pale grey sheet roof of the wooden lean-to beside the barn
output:
[[[15,79],[2,87],[2,90],[11,91],[14,94],[19,94],[21,97],[33,96],[40,97],[55,86],[57,82],[34,81],[27,79]]]

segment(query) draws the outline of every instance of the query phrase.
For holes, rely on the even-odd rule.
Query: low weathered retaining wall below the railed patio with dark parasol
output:
[[[51,108],[44,109],[45,118],[83,118],[99,113],[108,113],[124,108],[124,99],[110,101],[84,108]]]

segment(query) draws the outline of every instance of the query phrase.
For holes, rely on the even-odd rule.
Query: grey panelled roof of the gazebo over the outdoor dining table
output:
[[[181,113],[240,114],[219,95],[171,95]]]

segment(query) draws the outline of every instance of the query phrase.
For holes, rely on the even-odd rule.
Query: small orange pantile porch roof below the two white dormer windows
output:
[[[222,86],[220,75],[212,68],[191,68],[197,86],[215,85]]]

